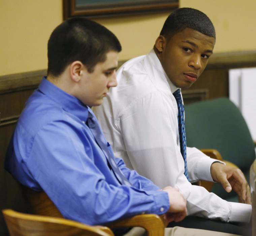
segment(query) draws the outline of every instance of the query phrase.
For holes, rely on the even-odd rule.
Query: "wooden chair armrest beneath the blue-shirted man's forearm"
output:
[[[163,236],[164,235],[164,223],[159,215],[155,214],[143,214],[135,215],[130,218],[118,220],[116,222],[107,225],[109,228],[122,228],[122,227],[142,227],[144,228],[148,236]]]

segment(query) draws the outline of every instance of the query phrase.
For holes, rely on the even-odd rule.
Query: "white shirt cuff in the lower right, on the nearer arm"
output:
[[[228,222],[250,222],[252,216],[252,205],[237,202],[229,203],[232,210]]]

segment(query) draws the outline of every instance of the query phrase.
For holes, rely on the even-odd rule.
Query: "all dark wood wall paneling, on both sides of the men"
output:
[[[182,91],[185,105],[205,99],[228,97],[228,70],[243,67],[256,67],[256,52],[214,54],[199,80],[190,89]],[[4,157],[25,101],[44,75],[46,70],[0,76],[0,209],[25,211],[17,183],[4,170]],[[0,235],[8,235],[2,214]]]

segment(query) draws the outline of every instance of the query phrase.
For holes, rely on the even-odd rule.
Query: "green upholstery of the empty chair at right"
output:
[[[255,160],[255,142],[240,110],[228,98],[185,105],[187,146],[217,149],[224,160],[234,163],[250,180]],[[212,192],[228,201],[238,201],[236,193],[226,193],[220,184]]]

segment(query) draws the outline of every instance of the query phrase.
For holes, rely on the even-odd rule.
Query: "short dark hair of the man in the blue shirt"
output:
[[[59,76],[74,61],[81,61],[91,73],[108,52],[121,50],[118,38],[104,26],[84,17],[70,18],[50,36],[47,74]]]

